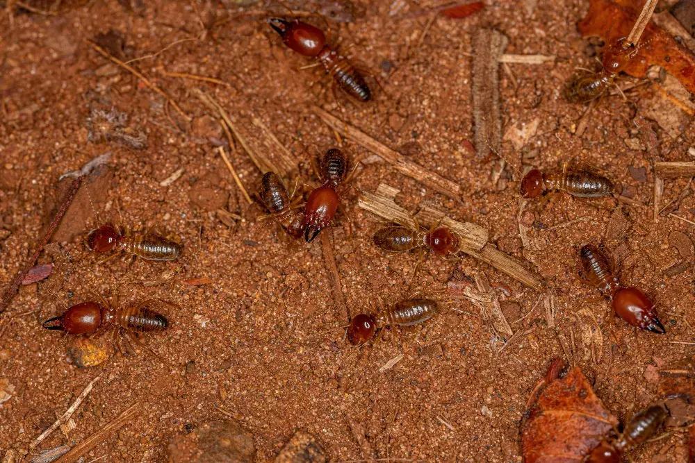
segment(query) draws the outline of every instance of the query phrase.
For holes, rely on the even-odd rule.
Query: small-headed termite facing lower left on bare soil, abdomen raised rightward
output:
[[[347,339],[355,346],[364,344],[374,337],[377,328],[386,325],[410,326],[423,323],[431,319],[438,310],[438,303],[432,299],[404,299],[376,316],[359,314],[353,317],[350,326],[347,327]]]

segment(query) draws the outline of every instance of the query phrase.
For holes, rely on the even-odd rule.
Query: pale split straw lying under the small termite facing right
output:
[[[393,201],[398,190],[383,183],[379,185],[375,193],[360,192],[359,207],[383,217],[388,221],[402,226],[417,229],[416,222],[407,210]],[[432,208],[423,208],[418,215],[418,223],[424,225],[436,224],[441,220],[441,225],[450,228],[457,233],[461,243],[461,251],[471,257],[485,262],[505,273],[524,285],[540,291],[545,284],[543,278],[525,269],[521,262],[510,257],[487,242],[488,232],[484,228],[469,222],[459,222],[445,217],[441,211]],[[426,222],[429,221],[429,224]]]

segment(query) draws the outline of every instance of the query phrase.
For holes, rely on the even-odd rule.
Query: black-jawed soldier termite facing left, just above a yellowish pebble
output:
[[[119,308],[117,302],[109,304],[99,294],[99,302],[87,301],[70,307],[58,317],[53,317],[42,323],[47,330],[60,330],[68,335],[99,335],[114,330],[114,344],[118,345],[117,335],[121,329],[126,332],[163,331],[169,326],[167,318],[148,308],[156,302],[174,305],[161,299],[148,299],[138,305]],[[175,305],[174,305],[175,306]],[[133,338],[138,341],[137,338]],[[147,348],[145,346],[145,348]]]

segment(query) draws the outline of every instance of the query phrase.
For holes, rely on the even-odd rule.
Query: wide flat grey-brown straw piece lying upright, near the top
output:
[[[500,57],[509,39],[493,29],[473,33],[473,121],[475,151],[484,158],[502,146],[500,108]]]

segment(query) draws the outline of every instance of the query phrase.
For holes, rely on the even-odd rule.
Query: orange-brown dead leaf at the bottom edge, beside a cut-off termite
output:
[[[521,425],[524,461],[582,462],[618,419],[605,409],[580,369],[548,380]]]

